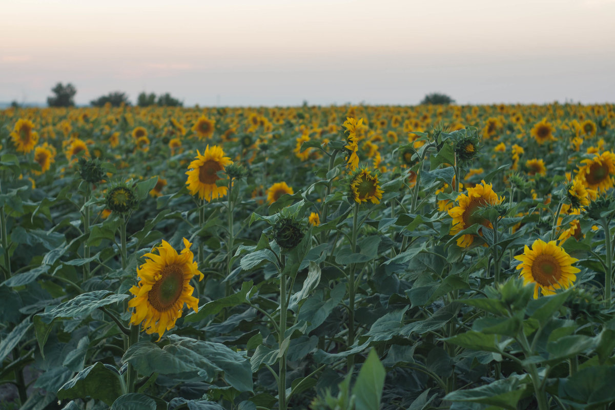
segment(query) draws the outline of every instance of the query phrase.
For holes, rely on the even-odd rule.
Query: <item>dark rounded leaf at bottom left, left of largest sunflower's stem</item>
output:
[[[58,390],[58,399],[95,398],[108,406],[116,401],[125,390],[124,380],[111,365],[95,363],[68,380]]]

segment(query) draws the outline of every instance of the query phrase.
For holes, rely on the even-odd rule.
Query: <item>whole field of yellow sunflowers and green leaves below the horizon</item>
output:
[[[609,409],[615,105],[0,111],[0,410]]]

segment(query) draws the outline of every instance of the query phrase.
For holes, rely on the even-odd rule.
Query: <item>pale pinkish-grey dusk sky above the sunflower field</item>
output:
[[[615,0],[0,0],[0,102],[615,102]]]

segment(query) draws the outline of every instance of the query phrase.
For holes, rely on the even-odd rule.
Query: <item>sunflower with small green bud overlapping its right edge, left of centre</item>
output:
[[[199,194],[200,199],[205,199],[210,202],[212,199],[220,198],[226,195],[226,186],[217,186],[216,181],[220,179],[218,171],[221,171],[226,165],[232,164],[229,157],[224,156],[224,151],[219,146],[209,146],[201,155],[197,150],[197,156],[188,165],[188,191],[192,195]]]

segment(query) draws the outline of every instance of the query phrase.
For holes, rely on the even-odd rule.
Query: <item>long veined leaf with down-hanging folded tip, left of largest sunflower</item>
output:
[[[49,337],[54,321],[84,317],[99,307],[121,302],[128,297],[127,294],[114,294],[108,290],[97,290],[82,293],[76,296],[76,298],[64,302],[45,313],[34,315],[34,329],[36,330],[36,339],[41,348],[41,355],[44,354],[43,347],[47,342],[47,337]]]

